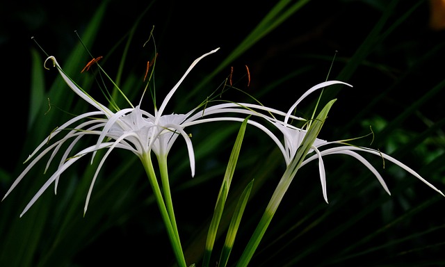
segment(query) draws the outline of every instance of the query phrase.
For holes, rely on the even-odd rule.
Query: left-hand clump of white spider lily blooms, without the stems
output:
[[[108,151],[106,152],[106,154],[104,154],[104,157],[100,161],[95,175],[92,178],[92,183],[90,186],[90,190],[88,191],[86,200],[85,211],[88,207],[92,187],[95,184],[95,179],[97,178],[99,170],[102,168],[102,165],[108,157],[108,154],[110,154],[110,152],[116,147],[127,149],[136,154],[142,161],[144,161],[146,159],[145,155],[149,154],[151,151],[153,151],[156,156],[167,156],[170,148],[172,147],[172,144],[177,139],[177,136],[179,136],[180,134],[186,141],[193,176],[195,172],[195,157],[193,146],[191,144],[190,137],[184,131],[184,126],[181,125],[181,122],[184,122],[184,119],[187,118],[191,113],[193,113],[193,111],[188,113],[188,115],[163,115],[163,111],[165,109],[165,106],[170,101],[172,95],[175,93],[181,82],[184,81],[187,74],[193,69],[193,67],[202,58],[208,56],[209,54],[215,53],[216,51],[218,51],[218,49],[214,49],[193,61],[191,66],[188,67],[188,70],[186,70],[181,79],[179,79],[177,84],[165,97],[163,103],[161,104],[161,107],[159,108],[159,111],[155,109],[155,115],[151,115],[146,111],[143,111],[142,109],[140,109],[140,106],[125,108],[114,113],[109,108],[90,97],[87,92],[77,86],[76,83],[74,83],[74,81],[72,81],[72,79],[70,79],[70,77],[67,76],[65,72],[63,72],[63,69],[58,64],[56,58],[54,58],[54,56],[49,56],[49,58],[45,60],[45,63],[47,63],[48,60],[51,60],[53,62],[53,66],[57,67],[58,72],[63,77],[67,85],[70,86],[70,88],[74,92],[76,92],[76,94],[79,95],[82,99],[86,100],[86,102],[97,108],[98,111],[78,115],[51,132],[51,134],[47,138],[45,138],[42,143],[40,143],[40,145],[38,145],[34,152],[29,155],[28,159],[26,159],[25,163],[33,159],[33,157],[35,156],[31,163],[29,163],[25,170],[19,175],[19,177],[15,179],[13,185],[10,186],[9,190],[3,196],[2,200],[4,200],[10,194],[10,192],[13,191],[17,184],[19,184],[19,182],[26,175],[26,173],[29,172],[29,170],[31,170],[31,168],[36,163],[38,163],[38,161],[40,161],[43,156],[49,154],[52,151],[49,161],[47,162],[48,168],[51,161],[54,159],[54,156],[59,151],[60,147],[69,141],[71,141],[71,143],[60,159],[58,169],[56,170],[56,172],[54,172],[53,175],[51,175],[51,177],[46,181],[42,188],[40,188],[38,193],[34,195],[32,200],[25,207],[20,216],[23,216],[23,214],[34,204],[36,200],[38,200],[40,195],[42,195],[42,193],[53,182],[55,182],[56,193],[58,178],[68,167],[70,167],[70,165],[72,165],[74,162],[76,162],[78,159],[80,159],[82,156],[85,156],[86,154],[92,153],[94,158],[95,152],[97,152],[99,149],[108,148]],[[97,118],[100,115],[104,115],[105,118],[90,119],[92,117]],[[79,123],[83,120],[86,120],[86,122]],[[76,124],[76,126],[72,127],[73,124]],[[58,133],[60,133],[61,131],[68,131],[68,133],[60,140],[43,149],[43,147],[47,145],[47,143],[49,143],[49,140],[53,140],[53,138],[58,136]],[[99,136],[96,145],[86,147],[85,149],[82,149],[81,152],[77,152],[76,154],[74,154],[74,156],[70,156],[70,152],[72,152],[74,145],[78,143],[82,137],[90,135]],[[45,168],[45,172],[47,168]]]

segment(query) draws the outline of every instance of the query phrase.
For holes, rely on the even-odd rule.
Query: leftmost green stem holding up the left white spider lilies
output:
[[[156,179],[156,173],[154,172],[150,153],[143,154],[143,156],[141,156],[140,159],[145,168],[145,172],[147,172],[147,177],[150,185],[152,186],[152,190],[154,193],[154,197],[156,198],[159,211],[161,211],[161,217],[163,219],[165,228],[167,229],[168,238],[170,238],[170,243],[172,245],[173,252],[175,253],[175,257],[177,259],[177,264],[180,267],[187,267],[186,259],[184,258],[184,252],[182,252],[181,249],[181,243],[179,241],[179,238],[177,238],[177,234],[175,232],[174,227],[172,226],[167,208],[165,207],[165,202],[162,197],[161,188],[159,188],[158,180]]]

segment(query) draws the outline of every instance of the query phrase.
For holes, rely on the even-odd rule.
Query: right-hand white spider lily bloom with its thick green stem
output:
[[[369,163],[369,161],[366,161],[363,156],[359,155],[355,151],[360,152],[368,152],[371,154],[375,154],[377,156],[381,156],[383,159],[387,159],[388,161],[391,161],[393,163],[396,163],[399,167],[403,168],[404,170],[407,170],[407,172],[410,172],[414,177],[417,177],[421,181],[423,181],[425,184],[430,186],[430,188],[434,189],[441,195],[444,195],[441,191],[439,191],[435,186],[432,186],[428,181],[423,179],[419,174],[414,172],[414,170],[408,168],[406,165],[401,163],[400,161],[397,161],[396,159],[392,158],[391,156],[387,154],[382,154],[374,149],[368,149],[364,147],[354,147],[352,145],[348,145],[346,143],[342,143],[341,141],[337,142],[327,142],[325,140],[318,139],[318,133],[320,132],[323,123],[325,122],[325,119],[327,118],[327,113],[330,111],[330,108],[332,104],[335,102],[334,100],[331,100],[326,104],[326,106],[323,108],[322,111],[318,114],[316,119],[311,122],[309,121],[307,125],[307,131],[305,129],[298,129],[297,127],[293,127],[292,125],[288,124],[288,120],[291,117],[291,112],[294,108],[309,95],[310,93],[314,92],[315,90],[318,90],[319,88],[323,88],[324,86],[327,86],[327,84],[334,84],[334,83],[341,83],[338,81],[331,81],[331,82],[325,82],[324,84],[321,83],[317,86],[314,86],[314,88],[309,89],[305,94],[300,97],[300,99],[297,100],[295,104],[291,108],[289,108],[288,113],[284,115],[284,120],[276,120],[275,116],[271,116],[267,118],[267,115],[261,115],[262,118],[266,118],[273,126],[275,126],[283,135],[284,138],[284,144],[278,142],[277,143],[277,137],[276,136],[270,136],[273,138],[275,143],[277,143],[278,147],[283,153],[284,159],[286,160],[286,170],[284,171],[284,174],[282,175],[280,181],[277,184],[277,187],[275,188],[275,191],[273,192],[272,197],[270,197],[270,201],[268,202],[268,205],[266,207],[266,210],[263,213],[263,216],[261,216],[261,219],[257,225],[257,228],[254,230],[254,233],[252,234],[252,237],[250,238],[250,241],[245,247],[245,250],[243,254],[241,254],[241,257],[238,259],[238,266],[245,266],[249,263],[250,259],[252,259],[253,254],[255,250],[257,250],[259,243],[261,242],[261,238],[263,238],[264,233],[266,232],[268,226],[270,225],[270,221],[272,220],[273,216],[275,215],[275,212],[277,211],[277,208],[280,205],[280,202],[282,201],[286,191],[288,190],[291,182],[293,181],[293,178],[296,176],[296,173],[300,168],[309,163],[310,161],[314,161],[315,159],[318,159],[318,169],[320,172],[320,179],[321,179],[321,188],[323,191],[323,197],[325,201],[327,202],[327,189],[326,189],[326,177],[325,177],[325,167],[323,163],[323,156],[329,155],[329,154],[347,154],[350,156],[353,156],[355,159],[362,162],[373,174],[375,177],[377,177],[378,181],[380,181],[380,184],[382,184],[383,188],[385,188],[385,191],[389,193],[389,189],[387,185],[385,184],[385,181],[382,179],[380,174],[377,170]],[[346,83],[343,83],[346,84]],[[348,84],[346,84],[348,85]],[[262,106],[249,106],[249,109],[255,109],[259,108],[262,111],[268,111],[271,112],[270,109],[264,108]],[[252,113],[254,114],[254,113]],[[277,113],[276,113],[277,114]],[[281,114],[280,114],[281,115]],[[342,144],[340,147],[334,147],[330,149],[322,149],[323,146],[328,144]],[[313,154],[314,153],[314,154]],[[312,155],[313,154],[313,155]],[[445,196],[445,195],[444,195]]]

